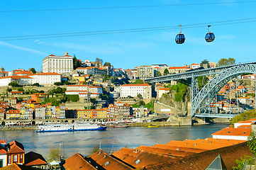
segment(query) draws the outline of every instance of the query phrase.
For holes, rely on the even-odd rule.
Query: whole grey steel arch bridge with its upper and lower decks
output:
[[[212,117],[212,118],[233,118],[234,114],[210,114],[207,113],[209,104],[213,101],[218,91],[231,79],[240,74],[256,73],[256,63],[233,64],[226,67],[216,67],[214,69],[203,69],[182,74],[172,74],[165,77],[155,77],[145,79],[150,83],[191,78],[191,117]],[[211,81],[208,81],[201,91],[198,89],[197,77],[215,75]],[[176,79],[175,79],[176,78]]]

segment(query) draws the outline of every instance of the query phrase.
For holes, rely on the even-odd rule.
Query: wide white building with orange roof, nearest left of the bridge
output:
[[[123,84],[120,90],[120,97],[137,97],[141,94],[143,98],[152,98],[151,86],[148,84]]]

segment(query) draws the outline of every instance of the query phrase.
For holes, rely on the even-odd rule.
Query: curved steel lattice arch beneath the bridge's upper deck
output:
[[[200,113],[206,113],[209,103],[213,101],[215,94],[221,90],[221,88],[230,81],[237,77],[240,74],[245,73],[255,73],[256,65],[255,64],[244,64],[236,65],[225,69],[220,74],[217,74],[211,81],[206,84],[206,86],[201,89],[201,91],[196,94],[191,102],[191,117],[194,117],[196,111],[200,110]]]

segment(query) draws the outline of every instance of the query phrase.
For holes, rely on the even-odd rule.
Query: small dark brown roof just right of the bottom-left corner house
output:
[[[44,165],[48,164],[45,161],[45,158],[38,153],[35,153],[33,151],[28,152],[25,154],[25,165],[26,166],[37,166],[37,165]]]

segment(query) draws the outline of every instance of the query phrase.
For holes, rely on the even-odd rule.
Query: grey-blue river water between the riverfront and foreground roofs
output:
[[[140,145],[166,144],[171,140],[204,139],[226,127],[228,124],[107,128],[104,131],[83,132],[37,133],[35,130],[0,130],[0,140],[7,140],[7,142],[16,140],[23,144],[26,153],[37,152],[43,154],[45,158],[48,157],[50,147],[57,147],[64,151],[67,158],[77,152],[87,156],[94,145],[100,145],[100,143],[104,152],[114,152],[115,148],[118,150],[126,146],[136,148]]]

